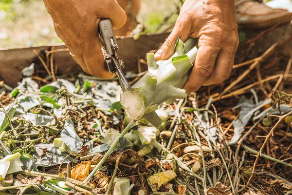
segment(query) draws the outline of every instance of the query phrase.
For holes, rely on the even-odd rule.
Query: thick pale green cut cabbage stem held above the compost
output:
[[[167,60],[156,62],[154,53],[147,54],[147,73],[120,97],[131,118],[146,118],[156,127],[161,125],[162,119],[154,111],[165,101],[184,98],[182,88],[197,56],[196,43],[197,39],[189,38],[184,43],[178,39],[175,54]]]

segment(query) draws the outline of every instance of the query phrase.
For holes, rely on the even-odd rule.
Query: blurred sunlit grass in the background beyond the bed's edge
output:
[[[144,33],[171,29],[180,0],[142,0]],[[167,20],[166,20],[167,19]],[[0,48],[61,43],[42,0],[0,0]]]

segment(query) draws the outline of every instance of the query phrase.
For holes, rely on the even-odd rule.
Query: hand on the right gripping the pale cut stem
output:
[[[197,91],[201,85],[223,82],[229,77],[238,46],[233,0],[185,0],[175,27],[155,54],[169,59],[178,38],[199,38],[199,50],[184,89]]]

